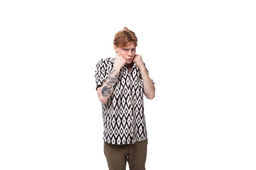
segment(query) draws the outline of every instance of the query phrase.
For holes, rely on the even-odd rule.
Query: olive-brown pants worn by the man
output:
[[[148,141],[135,142],[133,145],[110,145],[104,142],[104,153],[110,170],[145,170]]]

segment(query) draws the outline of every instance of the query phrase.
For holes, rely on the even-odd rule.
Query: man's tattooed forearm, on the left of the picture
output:
[[[113,67],[105,83],[97,88],[97,94],[102,103],[107,103],[108,98],[110,98],[110,96],[112,95],[114,87],[118,80],[118,75],[119,69],[115,69],[115,67]]]

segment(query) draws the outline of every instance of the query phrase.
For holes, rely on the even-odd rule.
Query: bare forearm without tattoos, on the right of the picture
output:
[[[148,72],[146,72],[146,67],[140,69],[143,79],[143,91],[146,98],[153,99],[155,96],[155,86],[151,81]]]

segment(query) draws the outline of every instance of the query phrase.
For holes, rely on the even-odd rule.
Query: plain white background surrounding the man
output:
[[[1,1],[0,169],[107,169],[95,65],[137,35],[146,169],[256,169],[253,1]]]

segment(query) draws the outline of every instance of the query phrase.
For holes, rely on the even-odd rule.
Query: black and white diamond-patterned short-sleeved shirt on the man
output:
[[[97,87],[104,84],[113,65],[114,58],[102,59],[97,63]],[[127,145],[146,140],[143,96],[143,81],[139,68],[134,64],[129,73],[125,64],[120,69],[112,95],[107,103],[102,103],[105,142],[112,145]]]

